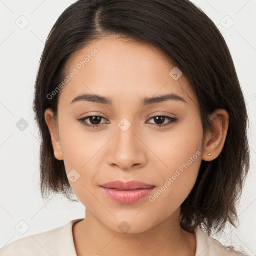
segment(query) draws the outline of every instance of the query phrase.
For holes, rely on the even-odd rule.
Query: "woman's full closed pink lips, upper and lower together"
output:
[[[122,204],[132,204],[147,196],[155,185],[136,180],[128,182],[116,180],[100,185],[100,187],[110,199]]]

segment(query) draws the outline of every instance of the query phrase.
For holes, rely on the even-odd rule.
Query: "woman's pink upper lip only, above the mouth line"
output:
[[[115,181],[107,182],[100,186],[105,188],[122,189],[122,190],[145,189],[145,188],[155,187],[155,185],[146,184],[137,180],[131,180],[128,182],[115,180]]]

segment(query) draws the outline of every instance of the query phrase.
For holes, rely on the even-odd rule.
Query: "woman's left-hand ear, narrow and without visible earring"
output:
[[[52,147],[54,150],[54,155],[55,155],[56,159],[63,160],[63,155],[62,155],[61,145],[60,145],[60,140],[59,140],[58,127],[57,127],[57,123],[53,117],[54,117],[54,113],[53,113],[52,109],[50,109],[50,108],[46,109],[46,111],[44,113],[44,118],[45,118],[45,121],[47,123],[48,129],[50,132],[51,143],[52,143]]]

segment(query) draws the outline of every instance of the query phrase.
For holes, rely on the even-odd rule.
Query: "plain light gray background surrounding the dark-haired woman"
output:
[[[59,195],[43,201],[40,196],[40,138],[32,111],[34,82],[44,42],[57,18],[73,2],[0,0],[0,247],[84,217],[84,206],[80,202],[71,203]],[[233,245],[242,246],[249,255],[256,255],[256,146],[253,142],[256,126],[256,0],[192,2],[223,34],[250,118],[251,168],[238,208],[240,226],[237,230],[227,228],[221,237],[215,238],[225,245],[231,239],[229,242]],[[28,25],[24,27],[26,23]],[[23,131],[16,127],[21,118],[28,123]],[[26,224],[20,221],[28,225],[26,232]],[[17,226],[21,225],[19,229]]]

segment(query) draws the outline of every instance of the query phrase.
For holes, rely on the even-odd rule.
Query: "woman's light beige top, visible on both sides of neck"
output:
[[[74,219],[64,226],[20,238],[0,249],[0,256],[77,256],[72,226],[83,218]],[[195,229],[195,256],[237,256],[225,250],[217,240],[207,236],[201,229]]]

